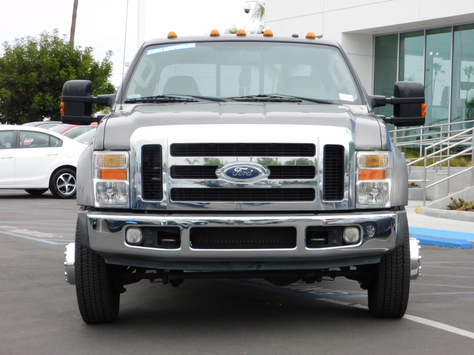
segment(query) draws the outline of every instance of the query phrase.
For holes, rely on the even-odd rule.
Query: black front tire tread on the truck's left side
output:
[[[76,294],[82,319],[89,324],[115,321],[120,293],[112,287],[110,266],[104,258],[82,247],[79,222],[76,225],[75,249]]]

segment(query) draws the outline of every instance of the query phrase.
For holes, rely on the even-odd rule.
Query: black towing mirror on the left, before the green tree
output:
[[[111,107],[115,94],[92,96],[90,80],[69,80],[63,86],[61,121],[67,124],[89,125],[102,117],[92,116],[92,104]]]

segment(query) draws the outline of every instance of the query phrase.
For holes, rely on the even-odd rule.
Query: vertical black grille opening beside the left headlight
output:
[[[142,146],[142,196],[144,200],[163,199],[163,160],[161,145]]]

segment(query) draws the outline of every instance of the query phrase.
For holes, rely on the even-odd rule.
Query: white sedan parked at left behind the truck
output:
[[[0,125],[0,188],[57,198],[76,195],[77,160],[85,144],[42,128]]]

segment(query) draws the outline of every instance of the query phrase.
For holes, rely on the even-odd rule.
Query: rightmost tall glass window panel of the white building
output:
[[[474,120],[474,24],[454,27],[451,122]],[[471,128],[457,124],[452,129]]]

